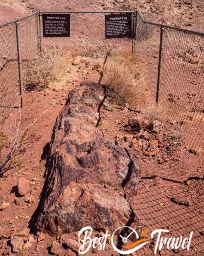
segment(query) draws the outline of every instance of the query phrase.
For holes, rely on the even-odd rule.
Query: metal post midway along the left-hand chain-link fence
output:
[[[22,77],[22,63],[21,63],[21,54],[20,54],[20,37],[19,37],[19,23],[16,18],[16,42],[17,42],[17,52],[18,52],[18,66],[19,66],[19,84],[20,84],[20,103],[23,107],[23,77]]]

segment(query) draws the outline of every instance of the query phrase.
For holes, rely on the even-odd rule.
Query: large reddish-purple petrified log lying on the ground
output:
[[[37,230],[60,236],[85,226],[112,232],[137,224],[131,207],[140,180],[136,159],[97,128],[98,111],[111,104],[93,82],[69,94],[53,129]]]

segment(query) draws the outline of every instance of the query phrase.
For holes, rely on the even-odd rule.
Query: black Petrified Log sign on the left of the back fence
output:
[[[70,37],[70,14],[42,14],[43,37]]]

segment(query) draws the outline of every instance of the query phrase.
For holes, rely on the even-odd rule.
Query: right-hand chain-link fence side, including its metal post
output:
[[[137,13],[135,52],[157,107],[180,126],[187,148],[204,149],[204,34],[147,22]]]

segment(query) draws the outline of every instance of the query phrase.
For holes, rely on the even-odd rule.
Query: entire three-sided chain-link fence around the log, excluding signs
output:
[[[26,64],[36,58],[39,49],[56,45],[83,54],[105,54],[112,48],[134,50],[158,106],[181,126],[186,144],[203,153],[204,34],[148,22],[139,13],[126,12],[132,15],[132,36],[105,39],[105,15],[112,13],[69,13],[69,38],[43,37],[43,13],[39,12],[0,25],[0,117],[18,107]]]

